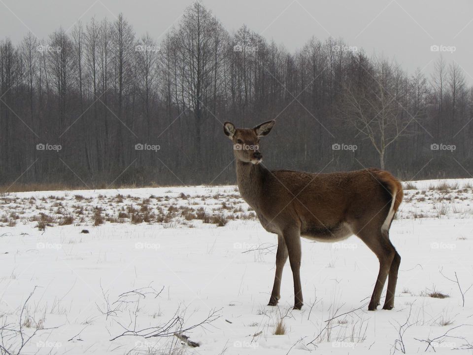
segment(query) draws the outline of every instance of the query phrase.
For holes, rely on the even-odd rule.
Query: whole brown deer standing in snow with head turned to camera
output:
[[[236,180],[241,197],[255,210],[263,227],[277,234],[276,275],[270,306],[280,298],[281,277],[289,256],[294,278],[294,309],[303,306],[300,267],[301,236],[337,242],[358,236],[379,259],[379,273],[368,309],[379,305],[389,275],[383,309],[394,307],[394,293],[401,256],[389,240],[389,228],[403,199],[401,183],[390,173],[364,169],[331,174],[291,170],[270,171],[260,164],[260,137],[268,135],[275,121],[254,128],[224,123],[234,143]]]

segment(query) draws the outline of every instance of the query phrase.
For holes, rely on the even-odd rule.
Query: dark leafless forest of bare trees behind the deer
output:
[[[164,34],[135,34],[119,15],[3,38],[0,185],[234,182],[223,122],[270,119],[270,168],[471,177],[473,88],[448,53],[432,59],[433,72],[406,72],[316,37],[290,53],[199,2]]]

